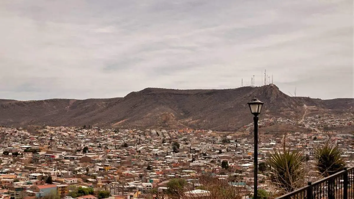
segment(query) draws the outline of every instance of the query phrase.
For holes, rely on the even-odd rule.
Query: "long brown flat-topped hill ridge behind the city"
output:
[[[254,96],[265,103],[262,118],[301,118],[306,107],[312,107],[314,114],[354,113],[353,99],[290,97],[275,85],[224,90],[147,88],[111,99],[0,99],[0,125],[190,127],[231,131],[252,122],[247,102]]]

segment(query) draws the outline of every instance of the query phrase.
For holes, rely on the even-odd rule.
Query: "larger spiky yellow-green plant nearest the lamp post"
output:
[[[304,185],[304,158],[299,150],[275,149],[269,153],[267,170],[272,183],[283,193]]]

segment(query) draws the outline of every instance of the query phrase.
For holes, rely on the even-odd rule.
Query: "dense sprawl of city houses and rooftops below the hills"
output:
[[[305,125],[314,120],[306,118]],[[327,123],[330,120],[325,118]],[[333,121],[351,125],[351,121]],[[311,163],[314,148],[331,141],[343,150],[348,165],[353,165],[353,140],[348,133],[296,132],[286,135],[286,147],[303,150]],[[270,150],[281,148],[283,141],[281,137],[260,140],[259,164]],[[50,198],[54,193],[57,198],[152,198],[166,192],[174,178],[184,179],[191,191],[202,193],[200,178],[205,175],[242,186],[246,198],[253,190],[251,132],[245,136],[190,129],[2,127],[0,154],[0,199]],[[259,168],[259,188],[276,192],[263,170]],[[313,176],[309,172],[307,177]]]

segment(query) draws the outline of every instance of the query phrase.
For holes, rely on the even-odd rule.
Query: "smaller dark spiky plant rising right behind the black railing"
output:
[[[323,177],[335,174],[346,166],[343,152],[338,147],[326,144],[315,150],[316,168]]]

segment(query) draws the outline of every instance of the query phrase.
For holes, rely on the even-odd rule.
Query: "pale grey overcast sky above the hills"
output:
[[[227,89],[353,97],[352,0],[1,0],[0,98]],[[271,78],[270,78],[271,79]]]

